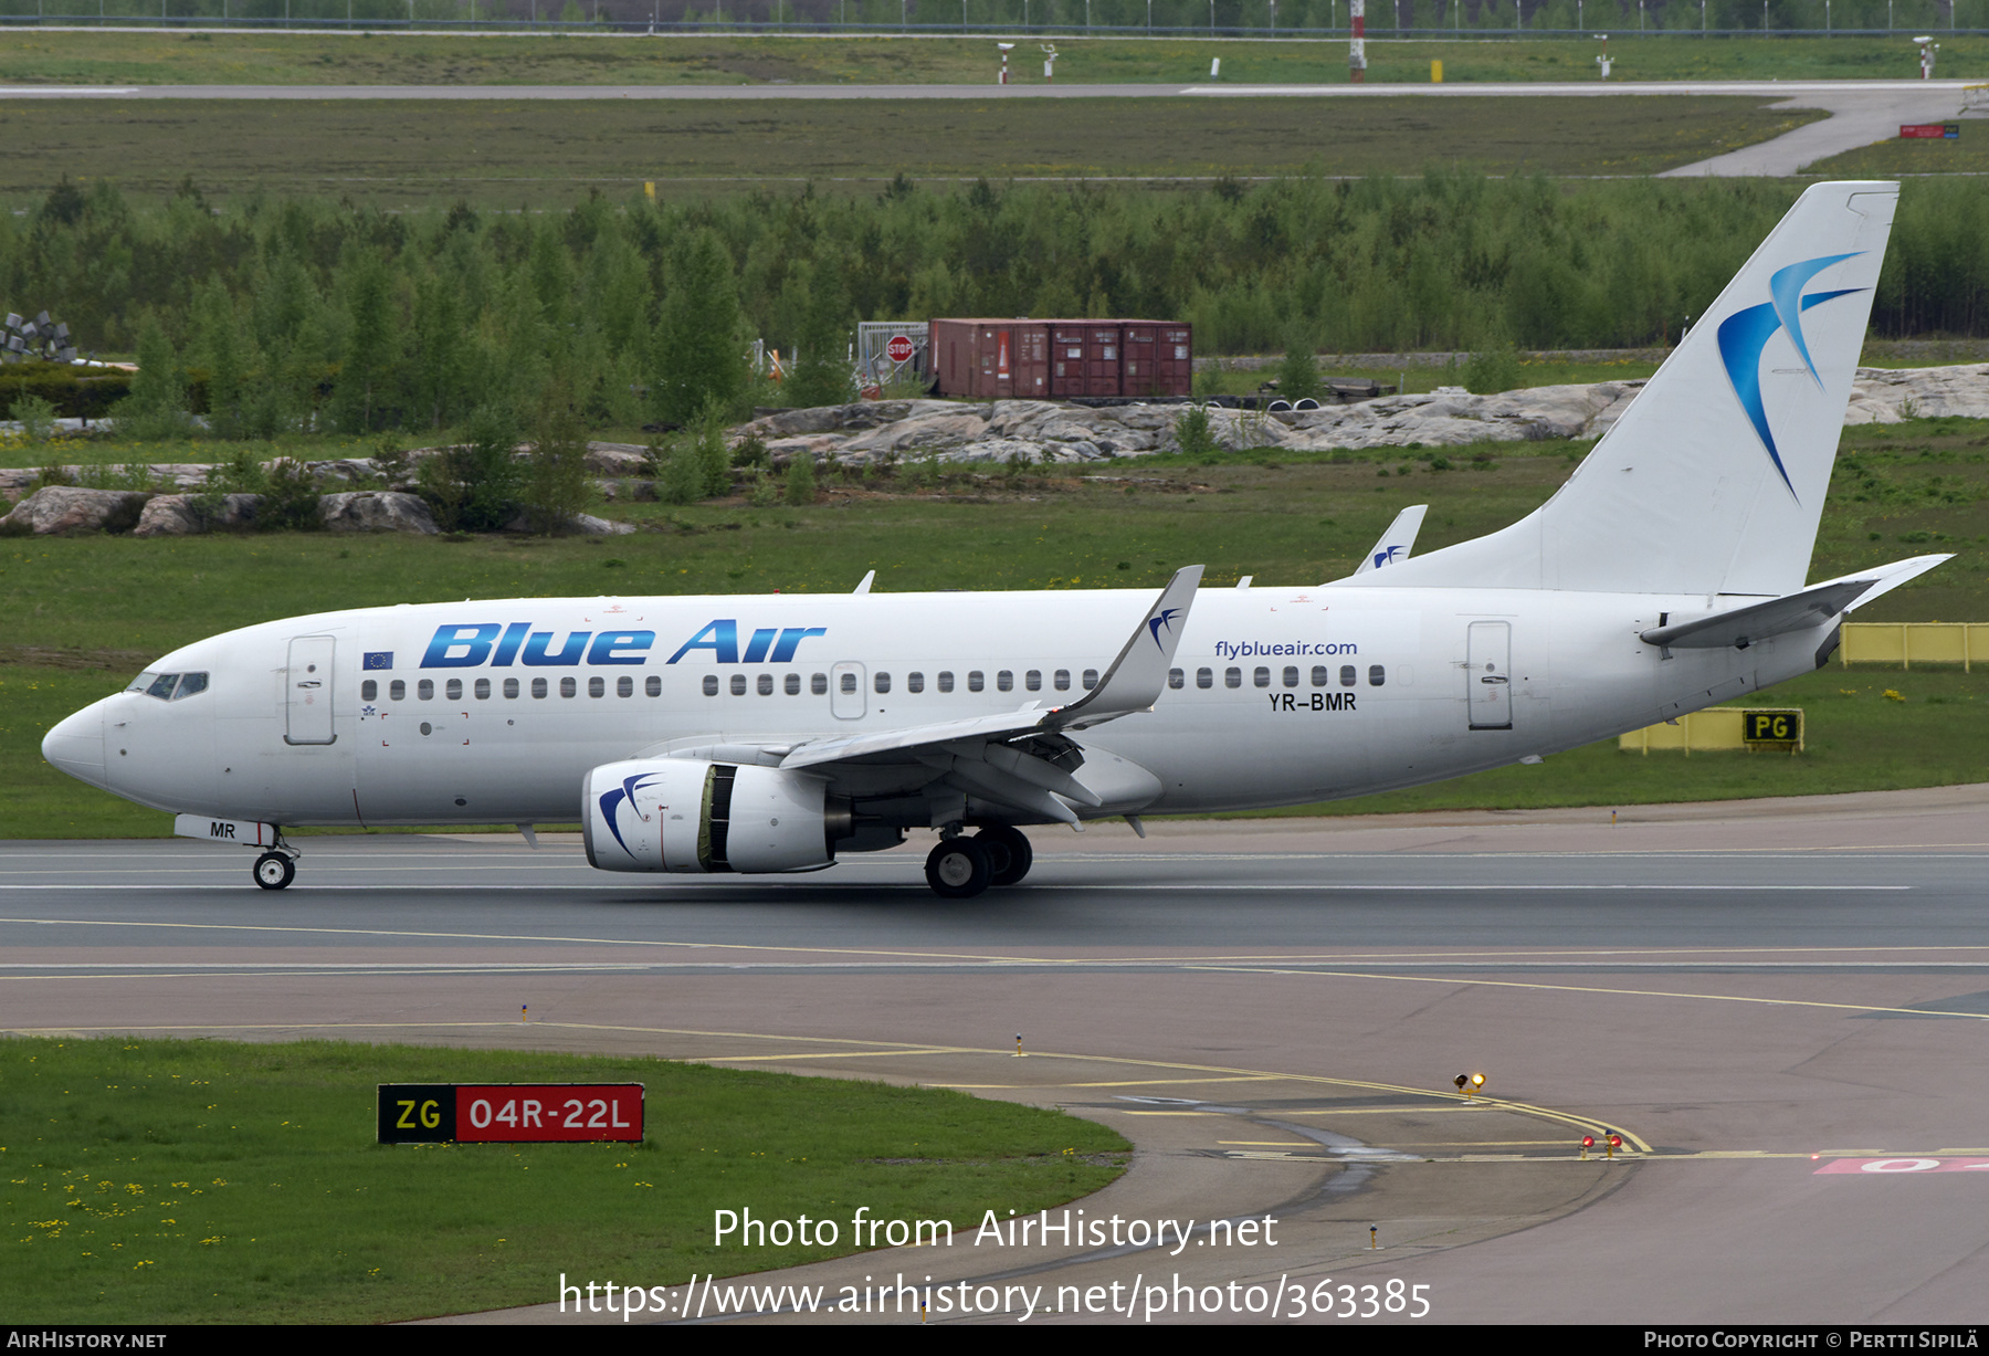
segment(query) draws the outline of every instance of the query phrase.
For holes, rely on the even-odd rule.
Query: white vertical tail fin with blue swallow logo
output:
[[[1898,199],[1896,183],[1804,191],[1553,499],[1349,583],[1802,589]]]

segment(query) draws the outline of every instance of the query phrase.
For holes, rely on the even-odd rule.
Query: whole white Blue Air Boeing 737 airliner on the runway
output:
[[[945,897],[1016,825],[1291,805],[1530,762],[1808,672],[1947,557],[1808,585],[1898,185],[1808,189],[1575,475],[1327,585],[507,598],[324,612],[167,654],[50,763],[181,833],[585,825],[605,871],[815,871],[937,829]]]

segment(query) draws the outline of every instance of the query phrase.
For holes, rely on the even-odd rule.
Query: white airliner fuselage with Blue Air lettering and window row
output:
[[[205,690],[105,698],[46,748],[117,795],[219,819],[571,821],[587,771],[617,760],[1064,706],[1084,694],[1086,670],[1112,664],[1150,600],[774,594],[324,612],[185,646],[149,672],[205,672]],[[1152,779],[1122,777],[1078,813],[1255,809],[1438,781],[1816,666],[1830,626],[1669,658],[1639,640],[1665,616],[1734,602],[1203,591],[1174,658],[1179,686],[1080,736],[1092,765],[1118,756]],[[903,791],[867,785],[863,767],[835,779],[859,799]]]

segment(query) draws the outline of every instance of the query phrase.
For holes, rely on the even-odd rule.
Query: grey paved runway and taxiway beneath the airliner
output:
[[[949,1084],[1124,1131],[1134,1167],[1092,1217],[1281,1221],[1275,1247],[963,1235],[762,1280],[1400,1280],[1436,1320],[1979,1318],[1989,787],[1150,829],[1044,833],[1026,887],[969,903],[925,891],[923,849],[770,883],[611,877],[571,841],[322,837],[269,895],[205,843],[10,843],[0,1028]],[[1583,1161],[1609,1133],[1621,1157]]]

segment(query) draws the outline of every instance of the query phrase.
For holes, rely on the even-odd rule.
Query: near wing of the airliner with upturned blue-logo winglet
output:
[[[1154,710],[1168,690],[1168,668],[1185,630],[1201,569],[1191,565],[1168,581],[1098,686],[1070,706],[1040,708],[1032,702],[1016,712],[808,740],[788,750],[780,767],[921,763],[931,779],[963,793],[1076,823],[1066,801],[1104,801],[1072,775],[1084,763],[1084,752],[1062,732]]]

